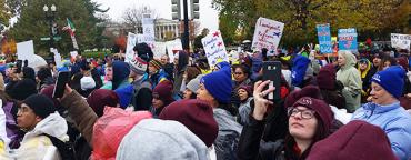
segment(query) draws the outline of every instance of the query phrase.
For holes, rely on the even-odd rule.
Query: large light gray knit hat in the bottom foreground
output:
[[[208,148],[178,121],[146,119],[121,140],[117,160],[208,160]]]

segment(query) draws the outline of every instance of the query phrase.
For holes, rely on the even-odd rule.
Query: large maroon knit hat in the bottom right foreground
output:
[[[307,160],[397,160],[387,134],[365,121],[351,121],[318,141]]]

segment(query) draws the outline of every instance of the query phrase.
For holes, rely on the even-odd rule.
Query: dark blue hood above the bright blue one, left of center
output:
[[[114,61],[112,63],[113,77],[112,77],[112,90],[116,90],[122,81],[127,80],[130,74],[130,66],[123,61]]]

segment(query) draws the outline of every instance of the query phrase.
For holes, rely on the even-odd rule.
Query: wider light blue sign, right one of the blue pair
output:
[[[353,53],[358,52],[357,30],[354,28],[339,29],[338,42],[339,50],[350,50]]]

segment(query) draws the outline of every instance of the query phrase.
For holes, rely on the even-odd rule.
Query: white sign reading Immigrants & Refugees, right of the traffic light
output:
[[[261,50],[267,48],[269,51],[277,51],[282,37],[284,23],[270,20],[267,18],[259,18],[255,23],[254,37],[251,48]]]

